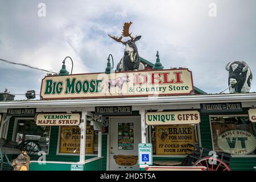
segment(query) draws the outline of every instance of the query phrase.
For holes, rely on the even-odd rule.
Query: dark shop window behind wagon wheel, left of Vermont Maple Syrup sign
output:
[[[50,129],[50,126],[37,126],[32,119],[20,119],[16,129],[15,142],[20,144],[26,140],[34,140],[39,144],[41,151],[48,154]],[[38,150],[36,146],[32,146],[32,148]]]

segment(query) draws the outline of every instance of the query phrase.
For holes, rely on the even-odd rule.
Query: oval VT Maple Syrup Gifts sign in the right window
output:
[[[256,137],[247,131],[229,130],[218,136],[217,145],[230,154],[250,154],[256,148]]]

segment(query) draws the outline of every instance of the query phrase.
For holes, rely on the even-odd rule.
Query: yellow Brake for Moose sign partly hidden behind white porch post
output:
[[[93,154],[93,134],[90,127],[86,128],[86,154]],[[62,126],[60,131],[60,153],[79,154],[80,153],[80,127]]]

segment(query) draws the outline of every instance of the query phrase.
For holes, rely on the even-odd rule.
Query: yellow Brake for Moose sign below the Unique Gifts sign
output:
[[[156,155],[185,155],[194,144],[193,126],[156,126]]]

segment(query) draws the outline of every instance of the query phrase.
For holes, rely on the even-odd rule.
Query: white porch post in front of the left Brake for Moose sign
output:
[[[85,146],[86,146],[86,115],[87,111],[82,111],[81,123],[79,125],[81,129],[81,140],[80,140],[80,160],[79,163],[84,164],[85,162]]]

